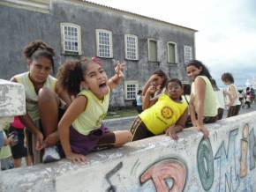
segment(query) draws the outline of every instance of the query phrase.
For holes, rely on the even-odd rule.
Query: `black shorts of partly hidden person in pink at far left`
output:
[[[15,132],[15,135],[18,137],[18,143],[14,146],[11,146],[11,154],[13,159],[19,159],[27,156],[27,150],[24,144],[25,134],[24,129],[17,129],[10,126],[9,134]]]

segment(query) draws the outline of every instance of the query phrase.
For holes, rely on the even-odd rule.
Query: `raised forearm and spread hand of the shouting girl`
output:
[[[115,68],[116,74],[109,78],[108,85],[110,89],[116,89],[117,86],[121,83],[122,78],[124,78],[123,71],[125,70],[125,64],[124,63],[117,63],[117,66]]]

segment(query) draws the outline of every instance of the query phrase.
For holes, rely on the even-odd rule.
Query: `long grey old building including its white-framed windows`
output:
[[[109,77],[127,66],[110,106],[126,107],[154,70],[186,80],[194,58],[194,29],[83,0],[1,0],[0,78],[27,70],[22,48],[41,39],[56,50],[56,69],[69,58],[98,56]]]

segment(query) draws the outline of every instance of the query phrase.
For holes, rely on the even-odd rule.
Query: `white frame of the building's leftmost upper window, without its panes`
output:
[[[71,49],[66,49],[65,48],[65,34],[64,34],[64,27],[69,26],[69,27],[73,27],[76,28],[78,31],[78,36],[77,36],[77,43],[78,43],[78,50],[71,50]],[[73,24],[73,23],[61,23],[60,24],[61,27],[61,44],[62,44],[62,53],[64,55],[82,55],[82,49],[81,49],[81,27]]]

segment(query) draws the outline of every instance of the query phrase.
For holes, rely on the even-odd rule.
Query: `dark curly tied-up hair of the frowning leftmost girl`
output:
[[[26,45],[26,47],[23,49],[23,55],[28,60],[36,60],[39,57],[48,58],[52,64],[52,69],[54,70],[54,49],[49,47],[49,45],[41,40],[36,40]]]

